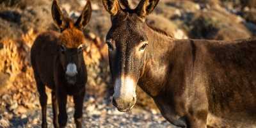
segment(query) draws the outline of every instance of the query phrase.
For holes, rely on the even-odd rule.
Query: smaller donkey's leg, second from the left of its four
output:
[[[55,128],[59,128],[60,125],[58,123],[58,101],[56,97],[56,93],[52,91],[52,111],[53,111],[53,125]]]

